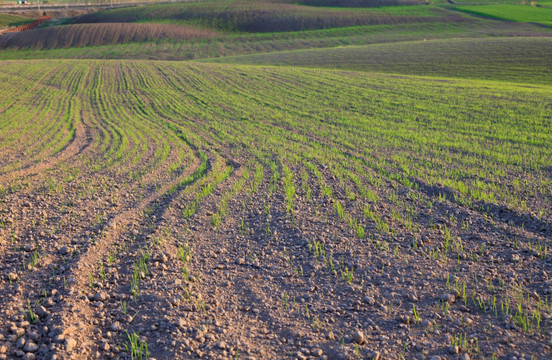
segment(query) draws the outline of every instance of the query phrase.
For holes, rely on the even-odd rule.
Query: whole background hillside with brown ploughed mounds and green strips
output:
[[[340,25],[344,25],[358,19],[363,19],[362,21],[365,22],[374,22],[375,25],[340,26],[330,29],[269,33],[263,32],[264,30],[261,28],[259,30],[261,32],[242,32],[236,29],[243,28],[244,24],[258,22],[259,19],[263,19],[263,16],[271,16],[270,12],[265,11],[266,9],[279,10],[274,10],[278,15],[274,16],[275,21],[272,25],[264,24],[264,28],[279,26],[278,22],[283,21],[282,19],[291,19],[289,26],[293,24],[297,26],[316,25],[317,23],[312,21],[314,21],[313,16],[317,14],[318,10],[313,7],[301,6],[300,9],[308,9],[308,11],[295,14],[294,11],[289,10],[291,5],[270,3],[260,6],[260,9],[264,10],[256,13],[253,11],[255,9],[254,5],[245,3],[242,8],[232,7],[229,13],[225,13],[224,4],[225,2],[150,5],[137,9],[102,11],[75,20],[82,24],[38,29],[32,34],[12,34],[4,41],[0,40],[0,49],[5,49],[0,51],[0,58],[187,60],[424,39],[484,36],[534,37],[550,36],[552,34],[551,30],[534,24],[505,23],[491,19],[474,18],[457,11],[427,5],[360,10],[323,9],[324,11],[319,15],[321,20],[318,27],[325,27],[333,22],[341,22]],[[292,7],[292,9],[295,8]],[[195,16],[195,19],[188,18],[184,20],[185,16],[182,14],[187,14],[185,16],[188,17]],[[223,16],[224,21],[220,20],[220,16],[222,16],[220,14],[225,14]],[[346,14],[346,16],[343,17],[343,14]],[[239,19],[234,19],[232,16]],[[217,20],[214,21],[213,19]],[[229,21],[229,19],[236,22],[228,25],[226,21]],[[119,25],[102,25],[113,21],[118,21],[117,24]],[[127,25],[121,25],[120,21],[127,21],[128,23]],[[303,23],[304,21],[306,22]],[[77,26],[84,24],[88,24],[88,27]],[[96,25],[92,26],[91,24]],[[141,24],[141,27],[134,27],[133,24]],[[157,30],[153,32],[146,31],[148,27],[144,24],[155,24],[152,25],[152,28]],[[161,30],[161,25],[171,25],[171,27]],[[176,26],[182,26],[183,28],[178,30]],[[128,27],[129,30],[124,30],[125,27]],[[120,34],[109,34],[107,29],[111,28],[117,29],[116,31]],[[192,28],[197,30],[192,30]],[[73,32],[72,29],[77,30]],[[86,29],[86,31],[82,31],[83,29]],[[130,29],[141,30],[134,31]],[[171,30],[168,31],[167,29]],[[186,35],[190,32],[207,34],[205,31],[214,31],[218,35],[215,37],[200,36],[199,39]],[[121,35],[123,33],[126,35]],[[117,39],[124,41],[124,43],[119,44],[120,40]],[[182,41],[183,39],[185,41]],[[14,51],[14,49],[19,49],[19,51]],[[28,51],[28,49],[33,50]],[[35,51],[44,49],[52,50]]]

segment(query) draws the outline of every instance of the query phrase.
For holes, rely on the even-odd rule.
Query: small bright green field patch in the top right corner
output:
[[[477,5],[457,6],[456,9],[469,14],[508,21],[536,22],[552,26],[552,8],[529,5]]]

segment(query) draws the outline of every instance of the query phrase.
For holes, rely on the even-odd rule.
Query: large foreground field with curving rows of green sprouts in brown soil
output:
[[[1,356],[551,356],[550,86],[93,60],[0,78]]]

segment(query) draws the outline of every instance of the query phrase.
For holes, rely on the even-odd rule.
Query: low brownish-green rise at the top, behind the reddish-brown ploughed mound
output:
[[[172,22],[227,32],[285,32],[361,25],[396,25],[432,21],[469,21],[455,12],[429,6],[376,9],[325,8],[279,3],[201,2],[150,5],[101,11],[79,23]]]

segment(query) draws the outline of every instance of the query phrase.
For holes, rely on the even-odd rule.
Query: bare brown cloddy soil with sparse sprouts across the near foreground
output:
[[[140,116],[137,104],[126,111]],[[550,244],[552,232],[535,217],[499,207],[475,211],[437,185],[387,182],[378,190],[382,199],[391,191],[406,202],[446,198],[432,207],[412,202],[425,230],[389,233],[367,223],[359,239],[334,205],[349,204],[357,218],[362,209],[317,164],[333,197],[310,173],[306,183],[297,180],[290,215],[282,179],[272,191],[265,166],[260,187],[232,197],[217,228],[212,216],[250,160],[234,155],[243,144],[209,152],[171,140],[167,159],[152,164],[157,143],[145,132],[152,138],[143,139],[141,162],[105,169],[92,160],[103,159],[101,144],[113,141],[109,122],[84,117],[80,124],[59,154],[22,156],[19,168],[0,174],[9,189],[0,202],[2,359],[130,359],[134,333],[156,359],[551,358],[550,332],[542,331],[552,326],[549,310],[539,312],[540,330],[533,331],[516,320],[517,308],[493,305],[493,295],[509,294],[529,319],[550,306],[552,260],[536,247]],[[142,149],[130,141],[129,149]],[[168,172],[183,147],[191,158]],[[4,156],[15,159],[9,149]],[[194,186],[224,163],[232,165],[230,176],[184,217],[199,192]],[[67,169],[80,173],[69,181]],[[133,181],[135,170],[145,172]],[[401,228],[388,200],[372,210]],[[444,249],[451,229],[463,255]],[[445,255],[434,259],[437,250]]]

